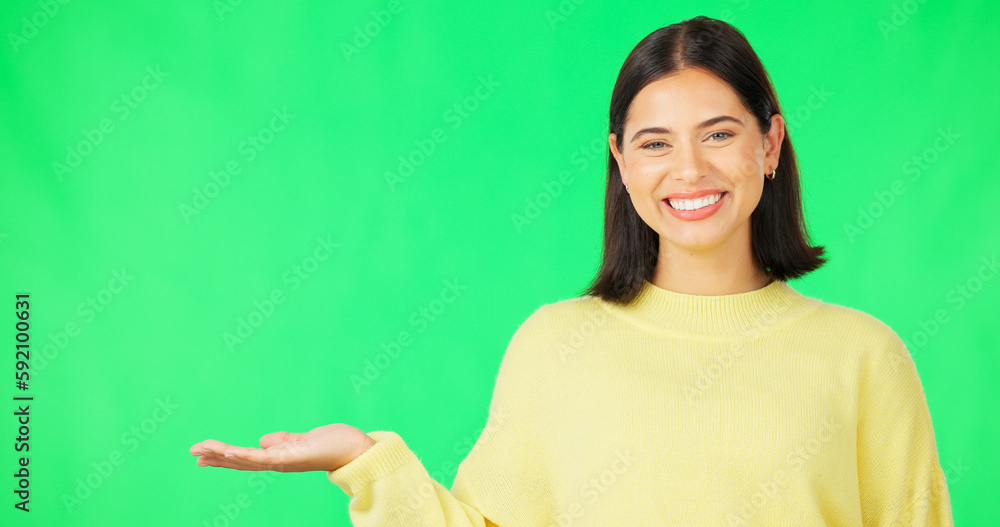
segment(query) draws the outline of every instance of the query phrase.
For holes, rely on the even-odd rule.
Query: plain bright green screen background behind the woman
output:
[[[0,523],[227,525],[244,493],[234,525],[349,525],[324,473],[188,453],[333,422],[396,431],[450,488],[514,330],[596,272],[622,62],[705,14],[744,32],[790,123],[830,256],[791,285],[904,339],[956,522],[986,525],[1000,470],[987,5],[4,3]],[[16,293],[31,295],[26,392]],[[27,514],[11,477],[24,394]]]

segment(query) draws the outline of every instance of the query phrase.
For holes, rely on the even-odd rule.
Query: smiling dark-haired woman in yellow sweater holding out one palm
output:
[[[609,132],[600,272],[515,332],[450,492],[397,434],[346,424],[203,441],[198,464],[327,471],[355,525],[952,525],[901,340],[786,283],[823,249],[744,36],[648,35]]]

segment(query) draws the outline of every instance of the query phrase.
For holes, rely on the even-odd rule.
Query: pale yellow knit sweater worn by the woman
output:
[[[774,281],[538,308],[451,491],[391,431],[328,473],[355,526],[951,526],[916,367]]]

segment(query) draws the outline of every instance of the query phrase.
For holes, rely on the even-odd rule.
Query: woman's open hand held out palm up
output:
[[[272,432],[260,438],[260,448],[238,447],[208,439],[191,446],[200,467],[237,470],[307,472],[336,470],[360,456],[375,441],[342,423],[313,428],[304,434]]]

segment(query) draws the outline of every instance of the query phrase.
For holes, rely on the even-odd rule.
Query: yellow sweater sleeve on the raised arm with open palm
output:
[[[452,490],[434,481],[403,439],[369,432],[375,444],[328,472],[351,497],[356,527],[536,525],[551,514],[547,466],[537,445],[541,404],[536,317],[515,332],[500,365],[486,426],[459,464]],[[548,524],[547,522],[545,524]]]

